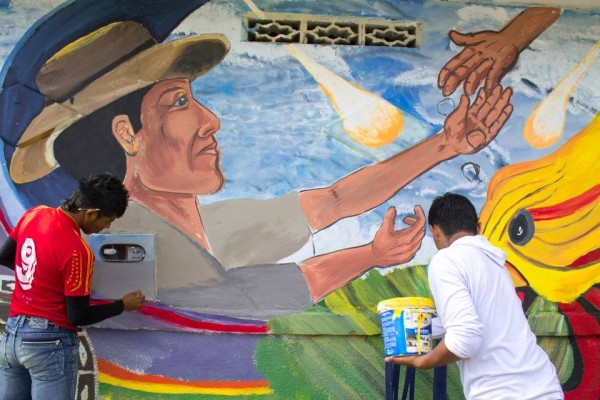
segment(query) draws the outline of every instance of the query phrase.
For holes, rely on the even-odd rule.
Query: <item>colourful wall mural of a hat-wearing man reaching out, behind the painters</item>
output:
[[[273,15],[326,15],[341,39],[292,43]],[[419,31],[344,45],[344,18]],[[13,0],[0,20],[0,240],[108,171],[131,202],[89,238],[98,260],[150,243],[149,267],[96,267],[95,301],[150,300],[86,330],[80,398],[383,398],[376,305],[429,295],[425,215],[446,191],[508,253],[566,397],[598,398],[600,12]],[[419,372],[418,398],[431,382]],[[462,398],[455,368],[448,394]]]

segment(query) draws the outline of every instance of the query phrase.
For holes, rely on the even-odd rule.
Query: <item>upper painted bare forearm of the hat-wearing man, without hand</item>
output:
[[[434,135],[395,156],[364,167],[326,189],[300,193],[304,214],[315,231],[342,218],[360,215],[389,200],[400,189],[439,163],[456,156]]]

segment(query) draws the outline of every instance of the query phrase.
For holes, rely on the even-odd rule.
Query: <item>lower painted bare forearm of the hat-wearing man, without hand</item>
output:
[[[376,266],[374,261],[368,244],[309,258],[300,264],[300,270],[317,302]]]

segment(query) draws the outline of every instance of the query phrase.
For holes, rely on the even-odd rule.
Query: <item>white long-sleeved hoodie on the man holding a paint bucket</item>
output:
[[[554,365],[537,345],[508,271],[506,253],[483,236],[435,254],[429,284],[444,342],[460,357],[469,400],[563,399]]]

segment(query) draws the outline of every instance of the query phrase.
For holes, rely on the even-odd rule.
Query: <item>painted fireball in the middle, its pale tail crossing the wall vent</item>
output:
[[[252,0],[246,5],[267,19]],[[344,131],[367,147],[381,147],[393,142],[404,128],[402,112],[385,99],[370,93],[329,71],[306,53],[292,45],[289,52],[315,78],[342,120]]]

